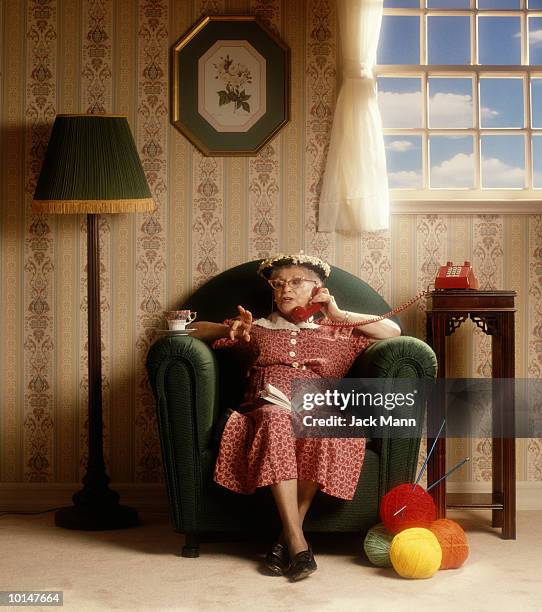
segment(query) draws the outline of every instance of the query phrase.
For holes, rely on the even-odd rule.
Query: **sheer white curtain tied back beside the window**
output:
[[[389,227],[388,178],[373,67],[383,0],[337,0],[342,86],[320,195],[318,229]]]

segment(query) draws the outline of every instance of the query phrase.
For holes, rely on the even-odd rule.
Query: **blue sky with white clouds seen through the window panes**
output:
[[[478,0],[480,8],[513,9],[519,0]],[[468,0],[428,0],[430,8],[466,8]],[[385,0],[384,6],[419,7],[417,0]],[[542,10],[542,0],[529,8]],[[468,66],[470,22],[468,16],[429,16],[427,62]],[[420,21],[417,16],[384,16],[377,62],[420,63]],[[542,16],[529,16],[529,63],[541,66]],[[520,19],[517,16],[478,18],[478,61],[481,64],[520,63]],[[476,60],[474,60],[476,61]],[[430,129],[473,127],[473,83],[468,77],[428,78]],[[480,125],[486,129],[513,130],[524,126],[524,85],[521,78],[482,76],[479,86]],[[542,129],[542,78],[531,84],[532,126]],[[422,82],[417,77],[379,77],[378,97],[383,125],[396,129],[386,136],[388,174],[392,187],[422,185],[421,136],[401,134],[401,129],[422,127]],[[472,136],[432,135],[429,139],[430,184],[433,187],[472,187],[474,146]],[[489,136],[480,142],[482,186],[523,187],[525,144],[522,135]],[[535,186],[542,187],[542,133],[533,141]]]

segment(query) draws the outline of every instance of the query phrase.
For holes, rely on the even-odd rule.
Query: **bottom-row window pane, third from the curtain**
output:
[[[482,187],[523,187],[523,136],[482,136]]]

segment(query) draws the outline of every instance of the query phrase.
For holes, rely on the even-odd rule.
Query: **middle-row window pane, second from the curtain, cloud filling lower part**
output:
[[[472,127],[472,80],[429,78],[429,127]]]

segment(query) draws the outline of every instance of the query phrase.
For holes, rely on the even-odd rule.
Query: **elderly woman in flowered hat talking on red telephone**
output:
[[[275,575],[296,581],[313,573],[316,561],[303,534],[303,520],[318,489],[353,498],[365,455],[363,438],[296,438],[291,413],[267,403],[260,391],[271,383],[291,397],[294,379],[341,378],[372,341],[399,335],[390,320],[367,324],[371,315],[347,312],[324,287],[327,263],[303,253],[263,261],[258,274],[273,290],[276,310],[253,320],[238,306],[239,316],[223,324],[195,323],[195,335],[214,348],[240,353],[248,364],[245,403],[224,429],[215,481],[238,493],[270,487],[282,521],[282,533],[265,557]],[[316,289],[315,289],[316,288]],[[326,319],[356,327],[319,325],[312,318],[295,322],[292,311],[317,303]]]

